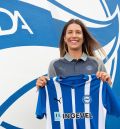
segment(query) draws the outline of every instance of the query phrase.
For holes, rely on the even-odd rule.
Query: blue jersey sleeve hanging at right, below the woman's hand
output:
[[[120,117],[120,98],[107,83],[103,86],[103,105],[108,114]]]

